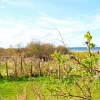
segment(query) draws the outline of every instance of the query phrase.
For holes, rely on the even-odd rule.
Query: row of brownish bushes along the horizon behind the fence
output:
[[[31,41],[26,47],[21,47],[20,44],[17,48],[0,48],[0,56],[23,56],[23,57],[37,57],[37,58],[50,58],[54,51],[61,54],[68,53],[68,49],[64,46],[54,46],[50,43],[41,43]]]

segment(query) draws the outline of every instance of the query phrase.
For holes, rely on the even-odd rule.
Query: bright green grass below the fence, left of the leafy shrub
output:
[[[0,100],[56,100],[47,89],[52,86],[50,77],[0,80]]]

